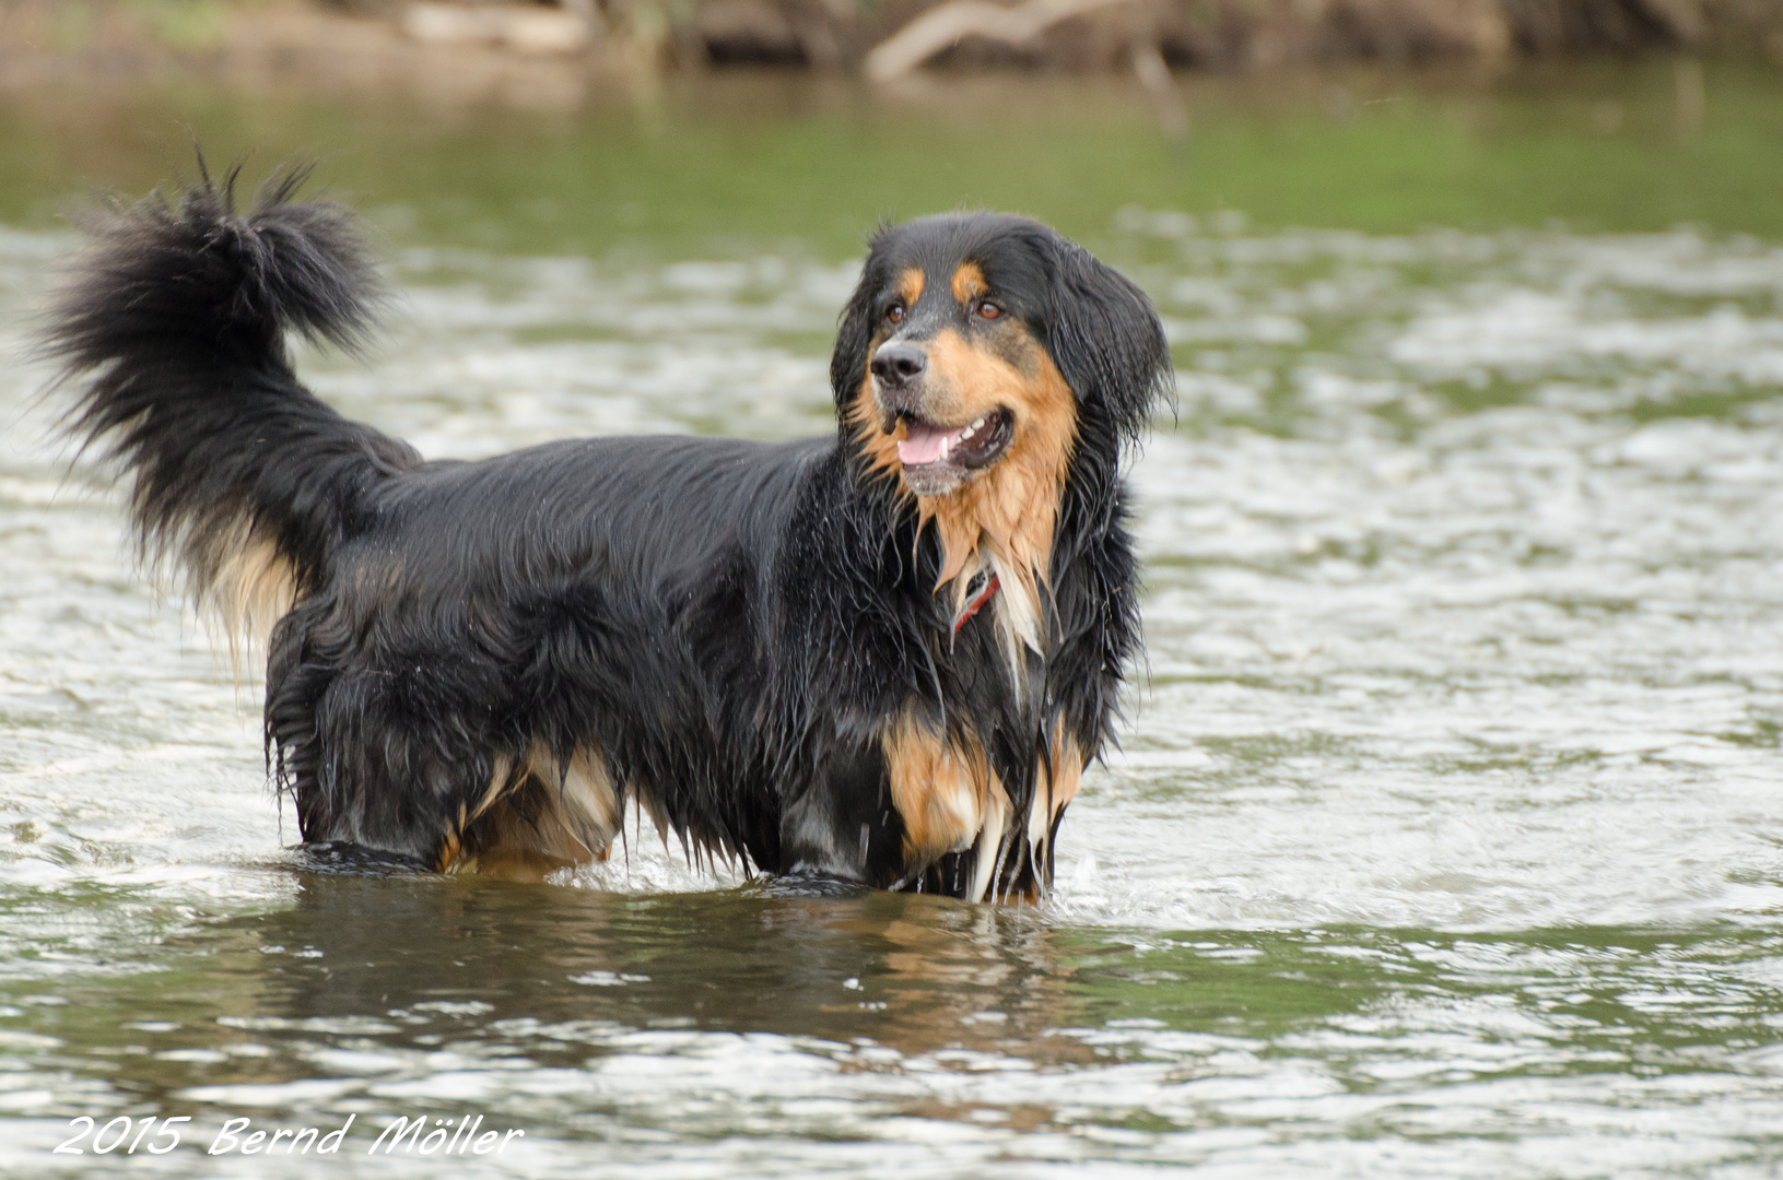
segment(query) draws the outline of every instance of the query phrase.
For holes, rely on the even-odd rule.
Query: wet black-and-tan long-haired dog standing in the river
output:
[[[1120,472],[1173,378],[1134,283],[1016,216],[886,225],[833,437],[430,462],[292,371],[385,298],[303,182],[89,210],[43,346],[139,556],[264,643],[305,847],[538,879],[635,806],[776,879],[1047,893],[1138,652]]]

